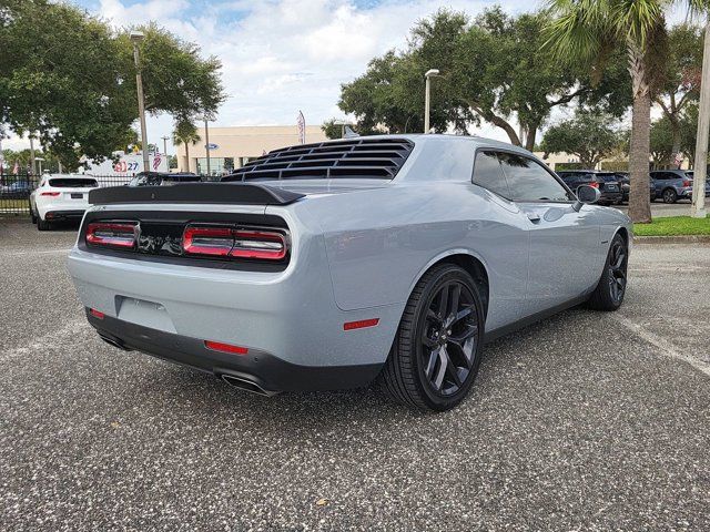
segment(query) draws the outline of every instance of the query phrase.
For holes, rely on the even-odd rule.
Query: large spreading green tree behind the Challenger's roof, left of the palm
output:
[[[440,10],[413,28],[406,51],[374,59],[365,74],[343,85],[339,106],[366,132],[383,126],[419,132],[423,74],[436,66],[442,75],[433,79],[430,116],[437,131],[453,126],[467,133],[483,121],[504,130],[511,143],[532,149],[557,106],[596,103],[620,115],[629,103],[618,90],[626,79],[619,83],[609,68],[592,80],[588,70],[540,50],[544,21],[542,13],[509,17],[493,8],[471,22],[464,13]]]

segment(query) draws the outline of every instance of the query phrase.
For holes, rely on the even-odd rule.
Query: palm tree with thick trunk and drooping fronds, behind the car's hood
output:
[[[600,68],[616,47],[627,52],[631,76],[632,116],[629,173],[629,216],[636,223],[651,221],[648,195],[651,99],[662,81],[665,9],[678,0],[548,0],[552,20],[547,44],[560,58]],[[707,0],[686,0],[693,10],[706,10]]]

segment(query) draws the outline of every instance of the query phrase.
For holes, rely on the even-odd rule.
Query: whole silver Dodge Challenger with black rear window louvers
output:
[[[69,272],[124,350],[242,389],[468,393],[483,347],[623,300],[631,224],[497,141],[383,135],[275,150],[221,183],[90,193]]]

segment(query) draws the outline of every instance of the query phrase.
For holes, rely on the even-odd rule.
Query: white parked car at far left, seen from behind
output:
[[[81,219],[89,207],[89,192],[97,187],[97,180],[84,175],[43,175],[30,194],[32,223],[39,231],[49,231],[53,222]]]

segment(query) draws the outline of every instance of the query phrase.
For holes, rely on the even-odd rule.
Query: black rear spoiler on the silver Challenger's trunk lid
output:
[[[288,205],[304,194],[245,183],[182,183],[172,186],[109,186],[89,193],[92,205],[115,203],[222,203]]]

